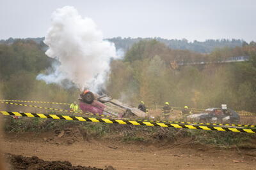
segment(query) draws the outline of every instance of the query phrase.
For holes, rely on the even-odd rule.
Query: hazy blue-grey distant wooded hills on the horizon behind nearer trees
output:
[[[228,47],[236,47],[236,46],[243,46],[243,43],[246,43],[242,39],[207,39],[206,41],[193,41],[189,42],[187,39],[163,39],[163,38],[108,38],[108,41],[115,43],[117,49],[122,48],[124,52],[126,52],[131,46],[140,41],[140,40],[150,40],[150,39],[157,39],[167,45],[172,49],[179,49],[179,50],[191,50],[194,52],[200,53],[210,53],[215,48],[221,48],[224,46]],[[0,44],[12,44],[17,38],[9,38],[6,40],[0,40]],[[40,44],[43,43],[42,41],[44,38],[25,38],[23,40],[33,40],[36,43]]]

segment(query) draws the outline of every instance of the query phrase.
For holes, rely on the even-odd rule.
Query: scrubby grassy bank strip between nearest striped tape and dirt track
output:
[[[204,143],[216,146],[240,145],[255,138],[254,134],[198,131],[189,129],[174,129],[163,127],[145,127],[132,125],[99,124],[93,122],[76,122],[67,120],[51,120],[42,118],[4,117],[5,132],[40,132],[65,129],[67,127],[79,127],[88,134],[97,138],[116,138],[127,141],[163,140],[179,142],[182,138],[191,138],[192,143]]]

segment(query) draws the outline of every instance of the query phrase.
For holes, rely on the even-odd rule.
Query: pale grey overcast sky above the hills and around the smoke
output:
[[[0,0],[0,39],[45,36],[52,12],[67,5],[92,18],[104,38],[256,40],[254,0]]]

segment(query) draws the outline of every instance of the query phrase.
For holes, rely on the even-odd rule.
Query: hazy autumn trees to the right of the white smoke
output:
[[[218,61],[230,56],[248,55],[248,62],[173,67],[173,60]],[[216,48],[202,54],[172,50],[156,40],[139,41],[124,59],[111,63],[108,92],[132,104],[193,108],[220,107],[256,111],[256,45]]]

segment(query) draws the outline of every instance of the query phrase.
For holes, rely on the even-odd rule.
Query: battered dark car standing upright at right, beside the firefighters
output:
[[[231,109],[208,108],[203,113],[189,115],[189,121],[203,123],[237,124],[240,121],[239,114]]]

